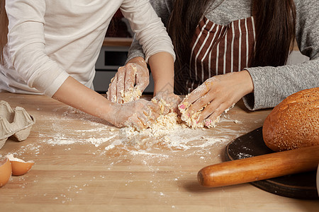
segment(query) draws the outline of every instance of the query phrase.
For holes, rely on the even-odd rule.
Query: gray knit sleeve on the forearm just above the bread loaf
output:
[[[245,96],[246,107],[250,110],[274,107],[299,90],[318,87],[318,69],[319,59],[302,64],[248,68],[254,93]]]

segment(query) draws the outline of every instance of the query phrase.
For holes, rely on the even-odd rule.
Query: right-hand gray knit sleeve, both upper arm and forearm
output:
[[[298,0],[295,3],[296,40],[301,53],[310,61],[247,68],[254,83],[254,93],[246,95],[243,100],[250,110],[274,107],[299,90],[319,86],[319,1]]]

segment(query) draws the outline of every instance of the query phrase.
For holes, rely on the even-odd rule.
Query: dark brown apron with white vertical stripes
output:
[[[254,31],[253,17],[228,25],[218,25],[203,17],[191,42],[188,73],[184,69],[184,77],[176,81],[178,86],[184,86],[184,92],[177,93],[190,93],[212,76],[247,67],[254,49]]]

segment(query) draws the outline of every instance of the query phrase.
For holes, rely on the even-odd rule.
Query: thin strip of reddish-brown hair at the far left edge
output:
[[[6,16],[6,1],[1,0],[0,2],[0,63],[3,62],[4,59],[4,46],[7,42],[8,35],[8,17]]]

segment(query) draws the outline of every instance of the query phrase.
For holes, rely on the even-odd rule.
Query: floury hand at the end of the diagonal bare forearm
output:
[[[147,100],[136,100],[113,105],[111,123],[118,127],[132,126],[138,131],[149,127],[159,116],[159,105]]]

